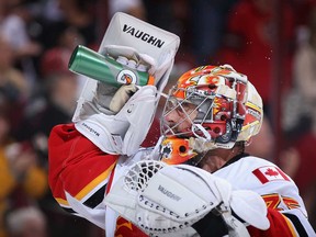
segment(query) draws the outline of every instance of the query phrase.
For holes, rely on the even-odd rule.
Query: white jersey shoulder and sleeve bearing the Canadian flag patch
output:
[[[296,236],[316,236],[307,222],[307,213],[294,181],[274,163],[246,156],[213,173],[227,180],[235,190],[251,190],[267,206],[281,211],[293,225]]]

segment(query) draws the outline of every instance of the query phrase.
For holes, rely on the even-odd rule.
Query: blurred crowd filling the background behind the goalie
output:
[[[170,80],[212,64],[248,76],[266,120],[247,150],[294,179],[316,227],[315,0],[0,0],[0,237],[104,236],[53,200],[47,138],[86,80],[68,70],[72,50],[98,50],[117,11],[181,37]]]

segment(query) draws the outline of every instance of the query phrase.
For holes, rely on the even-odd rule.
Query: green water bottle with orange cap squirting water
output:
[[[82,45],[78,45],[72,52],[68,68],[70,71],[114,87],[129,83],[154,84],[154,77],[148,72],[122,65],[114,58],[103,56]]]

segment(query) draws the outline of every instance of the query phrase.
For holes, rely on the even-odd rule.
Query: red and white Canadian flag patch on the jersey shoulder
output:
[[[253,170],[252,173],[260,180],[262,184],[276,180],[290,181],[289,177],[281,169],[273,166],[260,167]]]

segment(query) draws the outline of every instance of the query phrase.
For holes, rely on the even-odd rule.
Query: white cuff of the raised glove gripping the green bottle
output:
[[[104,153],[131,156],[138,150],[153,122],[156,92],[154,86],[142,87],[117,114],[112,115],[105,114],[100,105],[86,102],[81,109],[84,115],[80,115],[82,120],[75,122],[75,126]],[[121,102],[113,106],[119,108]]]

